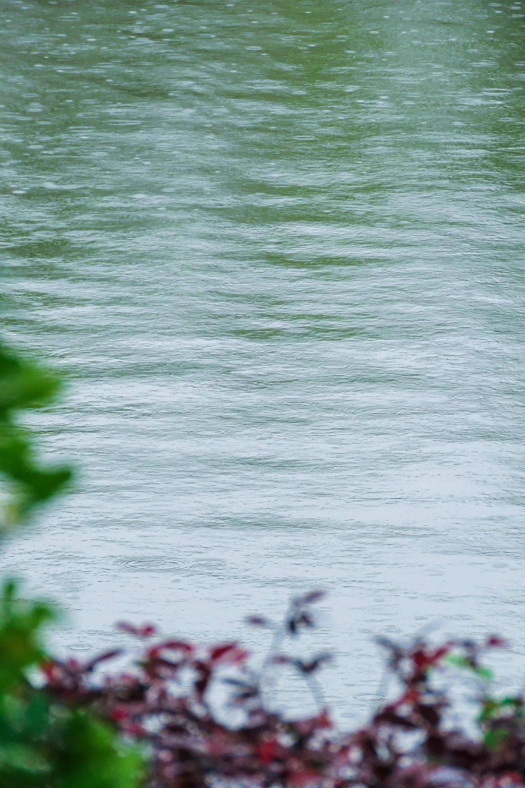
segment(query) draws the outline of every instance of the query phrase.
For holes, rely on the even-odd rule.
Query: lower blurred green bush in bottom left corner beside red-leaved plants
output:
[[[0,600],[0,788],[135,788],[141,757],[81,708],[52,701],[28,679],[45,657],[54,611],[9,581]]]

